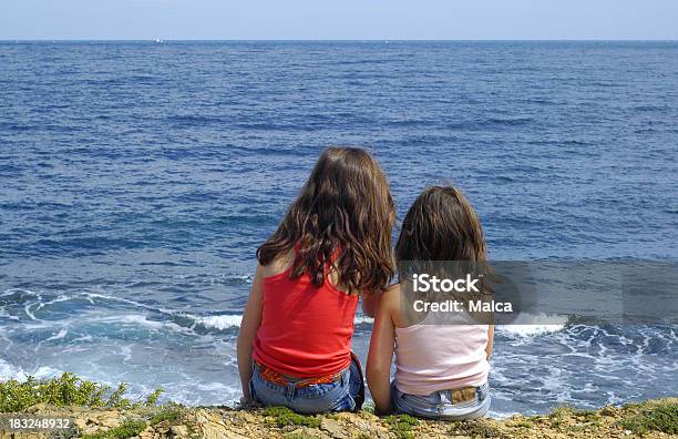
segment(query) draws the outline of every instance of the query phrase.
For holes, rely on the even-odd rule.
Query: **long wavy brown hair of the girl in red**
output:
[[[331,264],[350,292],[381,292],[394,273],[394,212],[386,176],[367,151],[328,147],[257,258],[268,265],[298,246],[291,278],[307,273],[320,286]]]

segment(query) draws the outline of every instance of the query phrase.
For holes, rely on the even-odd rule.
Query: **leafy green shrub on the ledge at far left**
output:
[[[124,382],[111,391],[107,386],[88,381],[68,372],[47,380],[28,377],[25,381],[20,382],[11,379],[0,382],[0,412],[22,411],[37,404],[55,407],[132,409],[155,405],[162,394],[162,390],[157,389],[144,401],[133,402],[125,398],[126,390]]]

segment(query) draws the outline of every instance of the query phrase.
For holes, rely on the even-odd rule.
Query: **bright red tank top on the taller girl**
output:
[[[351,361],[351,337],[358,296],[331,285],[316,287],[291,268],[265,277],[261,284],[261,325],[254,341],[254,359],[298,378],[338,372]]]

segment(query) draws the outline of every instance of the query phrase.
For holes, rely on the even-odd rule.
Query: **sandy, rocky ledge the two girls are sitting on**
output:
[[[163,405],[134,409],[55,408],[38,405],[32,417],[69,418],[71,430],[0,430],[0,439],[41,438],[669,438],[678,437],[678,398],[599,410],[561,407],[544,416],[444,422],[410,416],[359,414],[301,416],[285,408],[234,410]],[[11,414],[4,414],[4,425]]]

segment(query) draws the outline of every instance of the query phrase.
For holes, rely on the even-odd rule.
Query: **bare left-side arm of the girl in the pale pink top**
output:
[[[391,411],[391,363],[396,343],[396,329],[391,316],[393,296],[392,290],[381,295],[368,354],[367,380],[377,415],[387,415]]]

